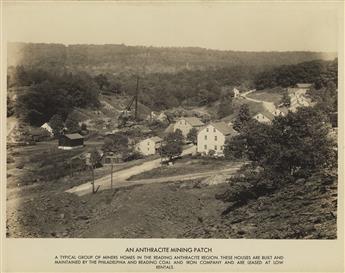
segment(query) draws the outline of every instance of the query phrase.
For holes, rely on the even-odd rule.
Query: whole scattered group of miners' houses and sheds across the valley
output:
[[[297,84],[294,88],[288,88],[288,94],[290,96],[290,111],[296,111],[300,106],[309,106],[310,102],[306,98],[307,91],[311,88],[311,84]],[[240,96],[240,92],[236,89],[235,95]],[[253,116],[253,119],[261,123],[270,123],[274,116],[285,115],[286,112],[280,108],[274,108],[271,112],[257,113]],[[150,118],[157,120],[165,120],[166,116],[162,113],[152,112]],[[47,130],[51,135],[53,134],[52,128],[48,123],[45,123],[41,128]],[[232,128],[232,124],[225,123],[223,121],[210,122],[205,124],[197,117],[181,117],[175,123],[170,124],[165,130],[165,134],[180,130],[184,138],[187,138],[188,133],[192,129],[197,131],[197,143],[196,152],[200,154],[210,154],[211,151],[216,156],[222,156],[224,150],[224,144],[226,140],[233,137],[237,132]],[[145,138],[134,143],[134,150],[141,153],[144,156],[157,154],[160,147],[163,145],[163,139],[159,136],[152,136]],[[63,150],[71,150],[84,146],[84,137],[78,133],[63,134],[58,140],[58,148]],[[109,158],[108,158],[109,157]],[[113,161],[118,161],[117,156],[108,155],[104,157],[105,164]]]

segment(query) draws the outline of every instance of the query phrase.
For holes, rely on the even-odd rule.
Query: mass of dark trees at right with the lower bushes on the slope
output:
[[[337,144],[329,137],[329,129],[320,106],[276,117],[272,125],[255,120],[244,123],[239,135],[226,143],[224,153],[228,159],[251,163],[230,179],[229,190],[217,196],[232,203],[225,213],[298,179],[334,173]]]

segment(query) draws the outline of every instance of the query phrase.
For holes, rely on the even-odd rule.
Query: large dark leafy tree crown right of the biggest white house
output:
[[[328,136],[327,117],[318,109],[299,108],[285,117],[276,117],[272,125],[249,122],[239,137],[229,144],[238,145],[253,164],[265,172],[285,176],[305,176],[336,163],[335,143]],[[229,146],[230,149],[231,146]],[[231,153],[229,153],[231,154]]]

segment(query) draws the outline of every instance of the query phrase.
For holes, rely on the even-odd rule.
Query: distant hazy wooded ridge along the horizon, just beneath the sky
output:
[[[253,41],[254,42],[254,41]],[[123,44],[63,45],[9,43],[8,66],[100,73],[176,73],[233,66],[273,67],[312,60],[333,60],[337,53],[222,51],[198,47],[145,47]]]

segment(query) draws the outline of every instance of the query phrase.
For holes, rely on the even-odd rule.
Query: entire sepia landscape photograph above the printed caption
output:
[[[339,238],[338,16],[8,4],[6,237]]]

